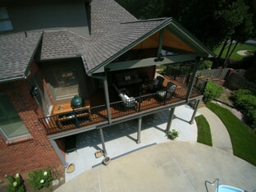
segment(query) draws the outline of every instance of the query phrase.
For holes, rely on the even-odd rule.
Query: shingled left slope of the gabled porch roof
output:
[[[167,24],[170,18],[135,21],[122,23],[115,29],[109,30],[106,34],[98,37],[97,41],[91,42],[85,46],[82,55],[85,57],[86,65],[89,71],[104,62],[111,62],[123,49],[131,48],[143,40],[144,36],[158,28],[160,25]]]

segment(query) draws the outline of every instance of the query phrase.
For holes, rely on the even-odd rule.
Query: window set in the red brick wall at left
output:
[[[0,101],[0,132],[2,136],[7,140],[29,136],[30,132],[11,105],[7,95],[0,93]]]

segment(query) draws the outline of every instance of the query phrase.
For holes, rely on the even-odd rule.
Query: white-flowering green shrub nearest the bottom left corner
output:
[[[17,173],[15,177],[13,176],[6,176],[6,177],[7,177],[7,180],[9,181],[7,192],[24,192],[25,191],[24,181],[21,178],[21,175],[19,173]]]

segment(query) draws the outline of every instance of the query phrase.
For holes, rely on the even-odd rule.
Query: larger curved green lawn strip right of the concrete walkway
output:
[[[212,110],[224,123],[231,137],[233,153],[256,166],[256,135],[229,110],[214,103],[208,103]]]

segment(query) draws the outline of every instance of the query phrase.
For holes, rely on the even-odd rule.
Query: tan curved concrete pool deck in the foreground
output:
[[[249,162],[204,144],[171,141],[94,167],[55,192],[206,191],[204,181],[216,178],[223,185],[256,190],[256,167]]]

